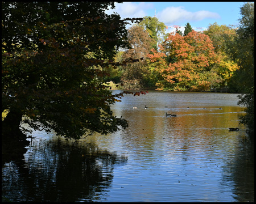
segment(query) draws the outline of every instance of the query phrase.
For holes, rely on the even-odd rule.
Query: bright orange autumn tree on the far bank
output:
[[[209,76],[215,75],[215,80],[219,80],[217,73],[212,70],[216,61],[213,49],[212,41],[203,33],[192,31],[184,37],[178,33],[170,34],[160,48],[168,62],[160,73],[168,83],[159,85],[163,90],[209,90]]]

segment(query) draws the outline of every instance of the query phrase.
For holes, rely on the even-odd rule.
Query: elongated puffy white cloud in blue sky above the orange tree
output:
[[[179,23],[183,21],[200,21],[206,18],[220,19],[220,15],[216,12],[210,11],[196,11],[191,12],[184,9],[183,6],[179,7],[167,7],[163,11],[160,11],[156,17],[165,24]]]

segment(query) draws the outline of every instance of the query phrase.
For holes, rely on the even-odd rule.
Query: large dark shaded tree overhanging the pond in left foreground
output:
[[[2,2],[5,150],[27,145],[32,130],[79,139],[127,127],[110,109],[124,93],[106,90],[101,67],[117,66],[116,51],[129,45],[125,25],[138,19],[106,15],[109,6],[114,2]]]

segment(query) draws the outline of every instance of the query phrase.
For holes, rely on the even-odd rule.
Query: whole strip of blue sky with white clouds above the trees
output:
[[[154,16],[167,26],[185,24],[192,27],[207,28],[216,22],[218,25],[237,25],[241,18],[240,7],[243,2],[123,2],[115,3],[115,12],[121,18],[142,18]],[[107,11],[108,14],[113,10]],[[167,32],[174,31],[169,27]]]

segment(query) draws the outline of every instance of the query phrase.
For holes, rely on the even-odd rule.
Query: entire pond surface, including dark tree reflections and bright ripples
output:
[[[2,167],[2,196],[16,202],[254,202],[254,143],[239,124],[245,113],[237,101],[237,94],[149,91],[113,105],[129,122],[123,131],[76,143],[35,131],[24,159]]]

